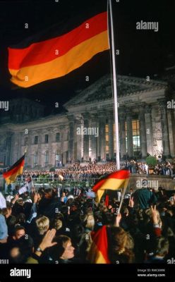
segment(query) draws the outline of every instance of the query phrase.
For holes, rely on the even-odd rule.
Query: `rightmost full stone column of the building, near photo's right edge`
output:
[[[169,127],[167,119],[167,102],[165,99],[159,99],[159,109],[160,109],[160,118],[162,125],[162,145],[163,145],[163,154],[168,157],[170,155],[170,145],[169,145]]]

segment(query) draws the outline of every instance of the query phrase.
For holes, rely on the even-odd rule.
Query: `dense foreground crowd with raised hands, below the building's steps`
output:
[[[131,189],[119,212],[116,191],[97,204],[83,188],[18,189],[0,209],[0,259],[9,263],[97,263],[93,238],[104,228],[107,263],[168,263],[175,255],[173,192]]]

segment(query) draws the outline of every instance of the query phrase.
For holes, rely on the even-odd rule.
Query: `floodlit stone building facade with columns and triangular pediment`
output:
[[[117,85],[120,157],[127,153],[128,157],[145,158],[147,152],[175,157],[175,112],[167,109],[167,82],[119,75]],[[25,147],[28,168],[49,168],[59,161],[114,159],[114,102],[109,75],[64,104],[67,114],[44,118],[39,103],[25,99],[22,106],[18,104],[18,99],[11,101],[11,118],[7,114],[1,117],[0,163],[4,166],[19,159]],[[26,116],[20,114],[22,108]]]

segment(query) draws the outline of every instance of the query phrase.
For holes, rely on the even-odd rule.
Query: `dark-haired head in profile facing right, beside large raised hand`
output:
[[[59,259],[68,260],[74,257],[74,250],[71,243],[71,238],[66,235],[56,236],[53,240],[57,244],[49,248],[49,255],[52,257],[54,262]]]

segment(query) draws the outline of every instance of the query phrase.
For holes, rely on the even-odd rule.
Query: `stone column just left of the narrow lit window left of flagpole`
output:
[[[100,147],[100,158],[106,160],[106,114],[105,112],[99,113],[99,147]]]

